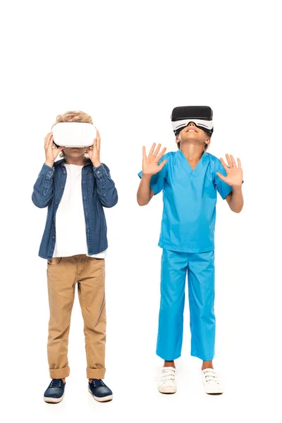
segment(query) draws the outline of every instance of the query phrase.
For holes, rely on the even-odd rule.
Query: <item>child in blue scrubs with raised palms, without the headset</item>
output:
[[[196,123],[197,122],[197,125]],[[187,123],[187,122],[185,122]],[[185,279],[188,275],[191,355],[203,360],[202,380],[207,393],[222,393],[214,371],[214,227],[216,197],[228,202],[233,212],[243,208],[243,171],[238,159],[226,154],[226,163],[207,153],[211,132],[190,120],[176,130],[177,152],[152,145],[143,147],[138,204],[145,205],[163,191],[164,211],[159,246],[161,304],[157,355],[164,359],[159,380],[161,393],[176,392],[174,360],[183,341]],[[161,150],[161,152],[160,152]]]

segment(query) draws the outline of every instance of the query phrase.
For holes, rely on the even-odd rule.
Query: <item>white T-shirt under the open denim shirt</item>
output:
[[[66,185],[56,212],[56,244],[53,257],[86,254],[89,257],[104,259],[106,250],[96,255],[88,255],[81,189],[83,166],[77,164],[65,164],[65,166]]]

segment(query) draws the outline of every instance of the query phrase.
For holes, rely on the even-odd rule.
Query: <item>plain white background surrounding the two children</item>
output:
[[[281,402],[281,22],[278,1],[11,1],[1,8],[1,413],[5,421],[278,422]],[[207,396],[190,357],[188,302],[178,392],[154,377],[161,195],[139,207],[142,145],[176,150],[175,106],[209,105],[209,152],[240,157],[245,207],[218,199],[216,357],[225,393]],[[44,137],[82,110],[102,136],[118,189],[106,210],[106,384],[87,391],[75,298],[71,376],[48,405],[47,262],[37,256],[47,209],[31,201]],[[73,222],[75,225],[75,222]]]

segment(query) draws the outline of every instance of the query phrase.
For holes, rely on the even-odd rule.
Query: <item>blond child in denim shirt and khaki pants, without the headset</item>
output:
[[[92,123],[82,111],[68,111],[56,123]],[[53,126],[54,126],[53,125]],[[52,127],[53,128],[53,127]],[[113,393],[102,381],[105,374],[105,263],[108,247],[103,207],[114,207],[118,194],[109,168],[100,161],[100,135],[92,147],[57,147],[53,134],[45,137],[46,161],[32,192],[32,202],[48,207],[39,257],[47,259],[49,336],[47,354],[51,383],[44,392],[48,403],[63,399],[68,367],[68,333],[75,285],[84,320],[88,389],[100,402]],[[55,161],[58,155],[62,159]]]

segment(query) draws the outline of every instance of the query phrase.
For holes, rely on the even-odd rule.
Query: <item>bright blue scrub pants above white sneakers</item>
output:
[[[214,358],[216,326],[214,250],[197,253],[163,250],[157,355],[168,361],[181,355],[186,274],[191,355],[209,361]]]

